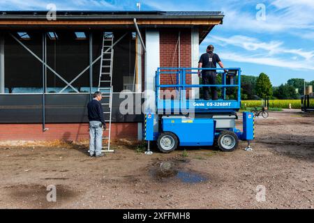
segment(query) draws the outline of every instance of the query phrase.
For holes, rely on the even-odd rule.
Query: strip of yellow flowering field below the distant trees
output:
[[[289,109],[291,104],[292,109],[301,109],[301,100],[269,100],[270,108]],[[314,106],[314,99],[310,100],[311,106]],[[262,107],[261,100],[242,100],[241,109],[248,107]]]

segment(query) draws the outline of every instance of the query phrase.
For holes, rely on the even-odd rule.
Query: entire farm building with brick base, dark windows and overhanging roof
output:
[[[143,114],[121,114],[120,92],[153,90],[158,67],[197,67],[200,43],[222,22],[220,12],[58,11],[57,20],[0,12],[0,140],[88,139],[106,33],[114,36],[112,138],[142,139]]]

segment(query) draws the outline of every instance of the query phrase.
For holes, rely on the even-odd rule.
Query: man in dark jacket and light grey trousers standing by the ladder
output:
[[[87,109],[89,112],[89,155],[102,157],[103,149],[103,128],[106,128],[103,118],[103,107],[100,100],[103,98],[101,92],[94,93],[94,99],[89,102]]]

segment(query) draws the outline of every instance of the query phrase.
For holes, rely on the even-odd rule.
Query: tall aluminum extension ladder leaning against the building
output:
[[[106,130],[103,134],[103,152],[113,153],[110,150],[111,119],[112,119],[112,66],[113,66],[113,40],[112,32],[103,33],[103,48],[101,49],[100,72],[98,91],[103,93],[101,105],[104,110]]]

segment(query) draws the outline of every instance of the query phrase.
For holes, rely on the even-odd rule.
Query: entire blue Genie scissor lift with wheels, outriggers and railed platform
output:
[[[216,70],[222,77],[222,84],[186,83],[201,70]],[[169,79],[172,84],[163,84]],[[177,146],[214,144],[222,151],[234,151],[239,139],[248,141],[246,149],[251,149],[253,113],[243,113],[243,131],[236,128],[237,112],[241,107],[240,68],[158,68],[154,85],[156,108],[148,109],[145,114],[144,134],[145,140],[157,142],[161,152],[170,153]],[[220,99],[199,99],[197,95],[203,86],[222,89]]]

